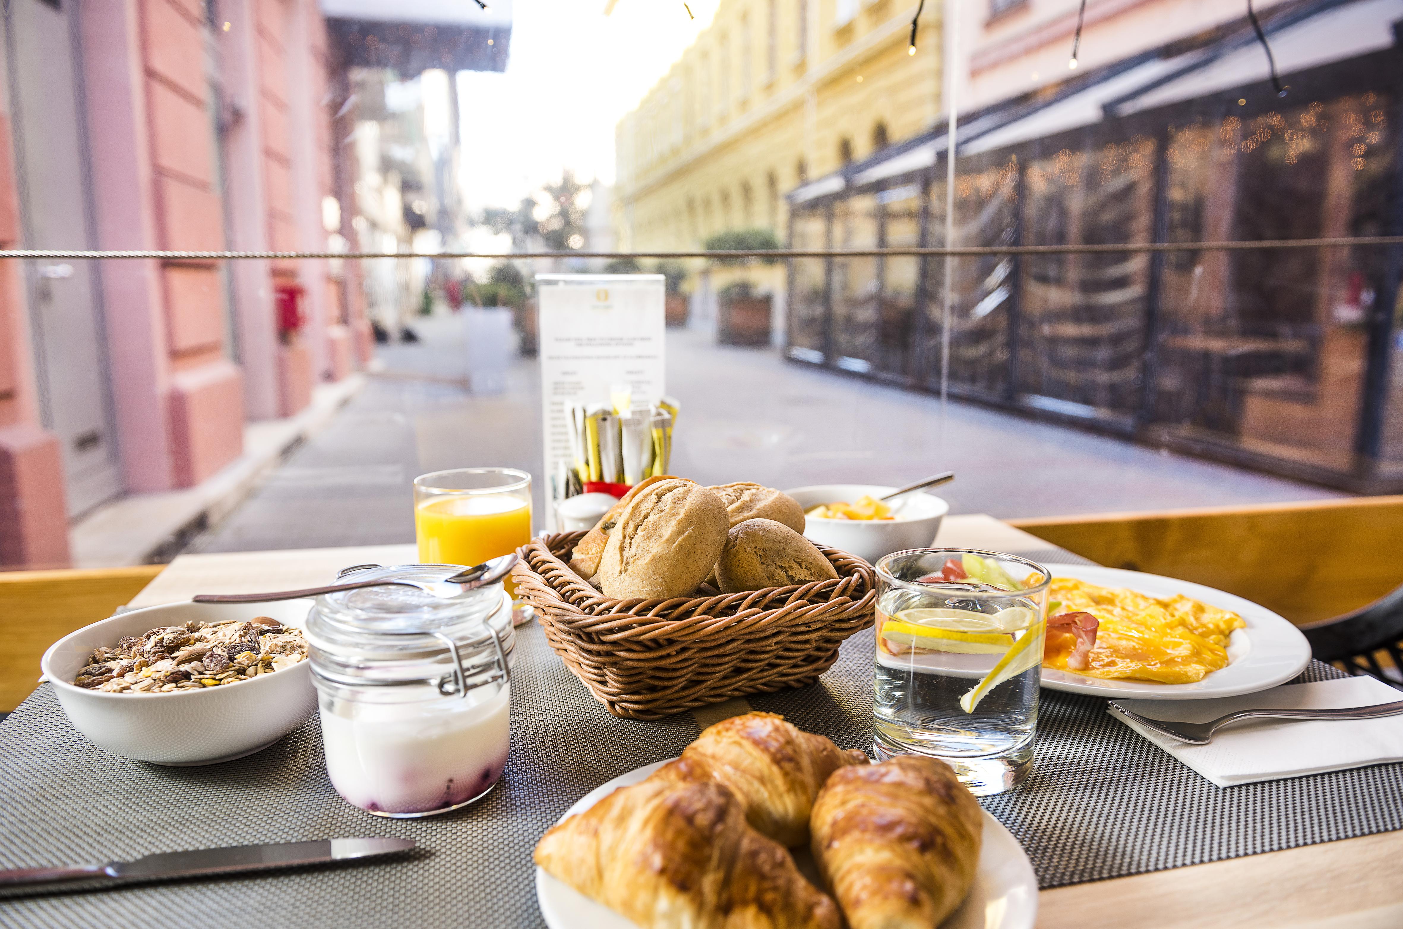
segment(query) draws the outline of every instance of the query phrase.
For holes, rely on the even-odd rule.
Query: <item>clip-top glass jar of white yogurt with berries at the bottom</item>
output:
[[[341,580],[443,580],[453,565],[365,565]],[[446,813],[485,796],[506,765],[512,603],[501,583],[439,598],[414,587],[317,598],[309,659],[327,773],[376,816]]]

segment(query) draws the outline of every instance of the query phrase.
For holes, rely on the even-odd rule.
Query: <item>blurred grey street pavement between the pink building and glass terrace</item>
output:
[[[445,468],[536,475],[540,373],[515,357],[506,390],[474,395],[459,317],[415,322],[419,343],[379,346],[383,369],[220,524],[187,551],[410,542],[411,482]],[[1343,496],[1120,439],[940,401],[786,362],[770,349],[668,331],[668,394],[682,402],[672,472],[702,483],[901,485],[937,471],[953,513],[1033,517]]]

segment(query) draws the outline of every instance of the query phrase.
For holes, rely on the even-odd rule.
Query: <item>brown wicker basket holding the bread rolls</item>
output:
[[[556,653],[615,716],[661,719],[732,696],[812,684],[873,624],[871,565],[819,551],[838,580],[739,594],[613,600],[565,563],[584,532],[532,539],[512,569]],[[707,591],[703,587],[703,591]]]

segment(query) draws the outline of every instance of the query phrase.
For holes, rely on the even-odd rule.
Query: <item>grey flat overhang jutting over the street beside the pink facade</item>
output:
[[[333,50],[344,66],[391,67],[412,77],[431,67],[505,71],[512,0],[321,0]]]

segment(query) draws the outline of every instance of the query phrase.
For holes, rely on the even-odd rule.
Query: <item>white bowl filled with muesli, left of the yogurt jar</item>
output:
[[[167,694],[109,694],[73,684],[93,649],[157,626],[271,617],[302,629],[310,600],[261,604],[175,603],[132,610],[83,626],[43,653],[39,668],[73,727],[104,751],[159,765],[210,765],[267,748],[317,709],[311,663],[260,674],[251,681]]]

